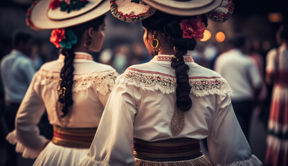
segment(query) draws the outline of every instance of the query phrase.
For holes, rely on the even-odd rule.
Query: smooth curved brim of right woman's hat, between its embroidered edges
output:
[[[219,7],[222,0],[193,0],[193,1],[174,1],[174,0],[142,0],[149,6],[162,12],[179,16],[202,15]]]

